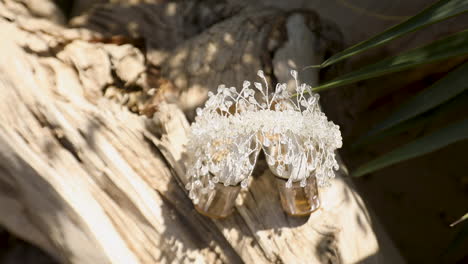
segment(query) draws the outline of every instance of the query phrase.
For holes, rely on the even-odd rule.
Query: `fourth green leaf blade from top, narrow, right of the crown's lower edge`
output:
[[[375,143],[376,141],[382,140],[387,137],[398,135],[404,131],[408,131],[414,127],[422,127],[427,123],[430,123],[439,118],[443,118],[447,114],[450,114],[453,111],[459,111],[463,109],[468,103],[468,92],[463,92],[462,94],[442,103],[439,106],[420,114],[414,118],[403,121],[395,126],[392,126],[380,133],[375,134],[366,134],[365,136],[359,138],[352,144],[352,149],[356,151],[357,149]]]

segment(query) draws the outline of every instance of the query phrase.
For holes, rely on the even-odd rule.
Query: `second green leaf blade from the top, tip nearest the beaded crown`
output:
[[[357,81],[378,77],[387,73],[402,71],[421,64],[468,54],[468,30],[437,40],[400,55],[367,65],[359,70],[342,75],[313,88],[321,91]]]

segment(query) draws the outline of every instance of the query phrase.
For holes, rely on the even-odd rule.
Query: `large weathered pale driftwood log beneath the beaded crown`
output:
[[[187,117],[210,89],[258,69],[287,82],[339,47],[312,11],[202,1],[62,17],[0,1],[1,226],[63,263],[402,262],[344,164],[307,218],[283,213],[264,161],[225,220],[181,187]]]

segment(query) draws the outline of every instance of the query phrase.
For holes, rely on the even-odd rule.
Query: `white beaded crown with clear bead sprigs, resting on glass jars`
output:
[[[319,95],[311,86],[299,84],[297,72],[296,94],[287,85],[278,83],[269,94],[268,82],[262,71],[259,82],[244,81],[242,89],[220,85],[216,94],[208,93],[203,109],[191,126],[187,151],[186,188],[195,204],[200,194],[225,186],[248,185],[248,178],[263,149],[271,171],[278,177],[307,184],[308,177],[316,177],[319,186],[329,184],[339,166],[335,150],[342,146],[339,127],[328,121],[320,110]]]

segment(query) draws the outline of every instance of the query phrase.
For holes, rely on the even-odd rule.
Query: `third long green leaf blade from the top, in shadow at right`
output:
[[[468,89],[468,62],[401,105],[386,120],[375,126],[366,137],[432,109]]]

